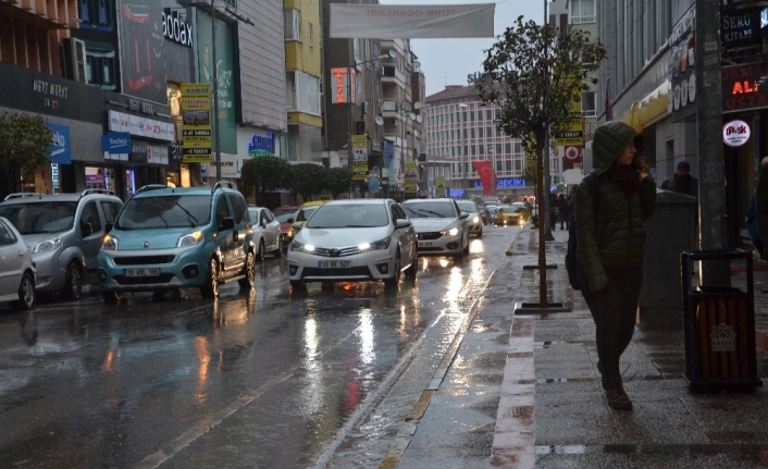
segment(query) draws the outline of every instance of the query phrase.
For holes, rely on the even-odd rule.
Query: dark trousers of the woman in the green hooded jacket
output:
[[[608,285],[592,293],[586,275],[579,266],[579,284],[595,321],[597,357],[605,378],[621,378],[619,359],[632,341],[637,316],[643,269],[633,268],[608,273]]]

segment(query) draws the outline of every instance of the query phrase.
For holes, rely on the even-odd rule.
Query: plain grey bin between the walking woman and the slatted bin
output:
[[[654,214],[645,223],[643,289],[637,326],[643,330],[682,329],[680,252],[694,249],[696,198],[658,189]]]

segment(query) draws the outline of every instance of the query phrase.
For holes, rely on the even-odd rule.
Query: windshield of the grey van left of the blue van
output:
[[[59,233],[70,230],[75,221],[76,201],[44,201],[0,206],[0,217],[5,217],[18,233]]]

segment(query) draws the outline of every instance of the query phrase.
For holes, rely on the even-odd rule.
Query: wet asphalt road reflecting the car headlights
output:
[[[268,258],[255,291],[218,301],[3,307],[0,467],[320,468],[338,452],[375,467],[517,231],[485,226],[461,262],[421,258],[398,291],[292,292]]]

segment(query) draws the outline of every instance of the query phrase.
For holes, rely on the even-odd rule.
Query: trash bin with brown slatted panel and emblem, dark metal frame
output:
[[[693,285],[695,261],[746,261],[746,292]],[[744,391],[761,386],[755,353],[752,254],[745,250],[680,255],[685,334],[685,378],[691,391]]]

